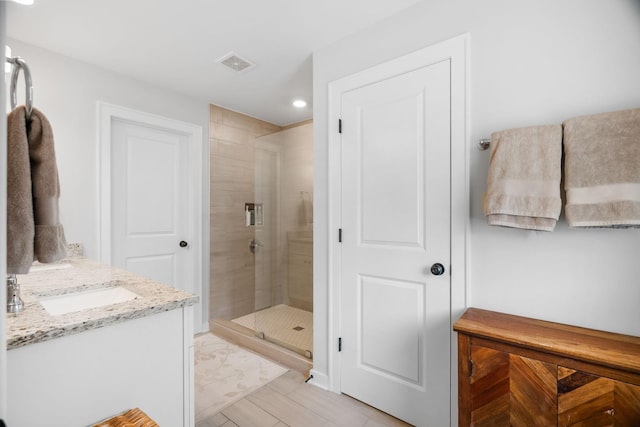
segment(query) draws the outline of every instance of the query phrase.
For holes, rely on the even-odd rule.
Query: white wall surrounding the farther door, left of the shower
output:
[[[133,80],[38,47],[7,41],[31,71],[34,106],[51,122],[60,176],[60,218],[67,241],[82,243],[99,260],[99,159],[97,102],[107,102],[202,127],[209,133],[209,104]],[[167,53],[169,55],[169,53]],[[22,78],[20,78],[22,82]],[[18,90],[24,102],[24,89]],[[209,283],[209,155],[203,146],[203,283]],[[203,287],[203,324],[208,320],[208,285]],[[199,328],[200,325],[196,325]]]

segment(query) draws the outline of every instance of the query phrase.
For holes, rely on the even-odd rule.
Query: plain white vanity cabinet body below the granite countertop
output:
[[[194,426],[193,308],[7,352],[10,427],[89,426],[140,408],[160,426]]]

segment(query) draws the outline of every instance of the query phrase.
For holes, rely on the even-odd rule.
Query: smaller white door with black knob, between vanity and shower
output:
[[[111,136],[111,263],[193,292],[187,135],[113,120]]]

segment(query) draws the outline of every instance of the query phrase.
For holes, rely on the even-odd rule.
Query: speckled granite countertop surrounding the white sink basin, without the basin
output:
[[[7,350],[198,302],[196,295],[82,257],[67,258],[58,265],[34,265],[29,274],[17,277],[24,310],[17,315],[7,314]],[[126,302],[55,316],[49,314],[38,302],[38,298],[43,296],[111,286],[126,288],[138,297]]]

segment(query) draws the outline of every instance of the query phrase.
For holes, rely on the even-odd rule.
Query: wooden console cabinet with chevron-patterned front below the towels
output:
[[[640,426],[640,338],[468,309],[458,332],[467,426]]]

